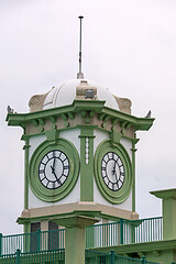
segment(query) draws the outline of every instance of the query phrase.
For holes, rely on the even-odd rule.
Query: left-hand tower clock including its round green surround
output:
[[[44,141],[34,151],[29,164],[29,182],[33,194],[46,202],[64,199],[79,175],[79,154],[65,139]]]

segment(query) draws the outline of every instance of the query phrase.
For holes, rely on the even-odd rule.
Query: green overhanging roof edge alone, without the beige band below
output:
[[[105,123],[107,120],[111,120],[112,127],[116,122],[120,122],[123,129],[134,127],[134,130],[148,130],[154,119],[152,118],[136,118],[134,116],[105,107],[105,101],[85,101],[74,100],[73,105],[52,108],[42,110],[38,112],[31,113],[9,113],[7,121],[9,125],[20,125],[25,128],[26,123],[34,123],[35,127],[44,125],[48,119],[56,120],[57,117],[66,119],[66,127],[69,125],[68,118],[74,117],[75,113],[81,113],[86,123],[89,123],[94,118],[95,113],[99,114],[99,120],[102,120],[102,127],[106,128]],[[51,121],[53,122],[53,121]],[[40,130],[43,130],[41,127]],[[42,132],[42,131],[41,131]]]

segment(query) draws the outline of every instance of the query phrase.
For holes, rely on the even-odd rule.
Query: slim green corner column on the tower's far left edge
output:
[[[24,136],[24,209],[29,209],[29,136]]]

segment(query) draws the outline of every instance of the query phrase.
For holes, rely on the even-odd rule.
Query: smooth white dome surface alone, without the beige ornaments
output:
[[[105,100],[106,107],[119,110],[119,106],[113,95],[108,88],[101,87],[99,84],[88,79],[72,79],[64,82],[59,88],[53,88],[46,96],[43,109],[56,108],[72,105],[76,99],[76,87],[80,81],[87,81],[88,86],[97,88],[97,100]],[[89,88],[89,87],[88,87]]]

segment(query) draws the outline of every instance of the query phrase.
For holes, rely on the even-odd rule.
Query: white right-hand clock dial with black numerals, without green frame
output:
[[[119,190],[125,179],[122,160],[114,152],[105,154],[101,161],[101,176],[107,187],[113,191]]]

